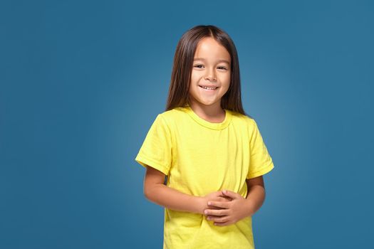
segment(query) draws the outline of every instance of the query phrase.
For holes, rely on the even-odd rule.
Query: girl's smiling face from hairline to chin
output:
[[[212,37],[202,38],[194,53],[189,82],[191,105],[221,108],[221,98],[230,85],[230,68],[231,56],[226,48]]]

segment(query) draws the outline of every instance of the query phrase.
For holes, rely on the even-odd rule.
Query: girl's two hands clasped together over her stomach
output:
[[[233,191],[215,191],[202,197],[202,214],[216,226],[228,226],[251,216],[251,201]]]

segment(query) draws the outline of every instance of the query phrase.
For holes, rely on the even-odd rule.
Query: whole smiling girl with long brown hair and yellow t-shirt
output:
[[[237,50],[222,29],[180,38],[166,110],[135,161],[145,196],[165,207],[163,248],[254,248],[251,216],[274,164],[241,105]]]

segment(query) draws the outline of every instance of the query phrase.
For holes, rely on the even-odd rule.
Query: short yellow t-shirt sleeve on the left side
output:
[[[169,173],[172,164],[172,137],[160,114],[148,130],[135,161],[144,167],[152,166],[165,175]]]

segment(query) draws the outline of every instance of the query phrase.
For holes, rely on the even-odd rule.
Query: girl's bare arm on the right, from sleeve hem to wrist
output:
[[[247,210],[250,211],[249,215],[253,216],[265,200],[264,179],[262,176],[246,179],[246,185],[248,186],[248,193],[246,195]]]

